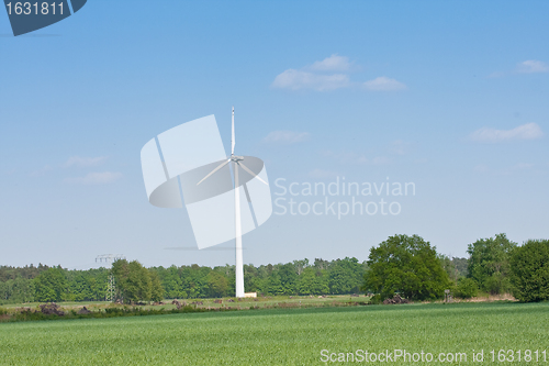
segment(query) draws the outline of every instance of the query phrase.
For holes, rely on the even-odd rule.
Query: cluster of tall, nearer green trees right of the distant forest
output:
[[[421,236],[390,236],[370,249],[361,290],[374,301],[439,299],[446,290],[461,298],[511,292],[520,301],[549,300],[549,241],[519,246],[497,234],[469,244],[467,253],[468,259],[450,260]]]

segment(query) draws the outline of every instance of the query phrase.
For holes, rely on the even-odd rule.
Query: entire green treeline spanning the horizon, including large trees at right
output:
[[[511,292],[522,301],[549,300],[549,241],[519,246],[505,234],[468,245],[469,258],[449,258],[421,236],[394,235],[370,249],[368,260],[320,258],[244,266],[246,291],[264,295],[346,295],[370,292],[378,300],[395,293],[412,300]],[[123,302],[234,296],[235,267],[191,265],[145,268],[117,260],[105,268],[68,270],[60,266],[0,267],[0,304],[101,301],[114,276],[113,300]]]

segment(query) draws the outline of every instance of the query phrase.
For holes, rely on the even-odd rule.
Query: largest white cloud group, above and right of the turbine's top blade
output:
[[[352,69],[358,69],[349,58],[333,54],[323,60],[317,60],[312,65],[300,69],[289,68],[274,77],[272,88],[290,90],[316,90],[328,91],[341,88],[356,87],[357,89],[368,89],[376,91],[403,90],[406,86],[395,79],[378,77],[366,82],[354,82],[349,74]]]

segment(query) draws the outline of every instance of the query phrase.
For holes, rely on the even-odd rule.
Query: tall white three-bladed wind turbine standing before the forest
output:
[[[223,168],[228,163],[233,162],[233,171],[234,171],[234,196],[235,196],[235,256],[236,256],[236,297],[244,298],[244,263],[243,263],[243,248],[242,248],[242,217],[240,217],[240,190],[239,190],[239,181],[238,181],[238,168],[243,168],[248,174],[250,174],[254,178],[257,178],[265,185],[269,185],[267,181],[257,176],[254,171],[251,171],[246,165],[244,165],[244,156],[235,155],[235,108],[233,107],[233,117],[232,117],[232,134],[231,134],[231,156],[219,165],[215,169],[210,171],[202,180],[200,180],[197,186],[201,182],[210,178],[217,170]]]

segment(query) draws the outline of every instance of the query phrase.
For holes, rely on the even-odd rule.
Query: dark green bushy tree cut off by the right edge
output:
[[[549,300],[549,241],[528,241],[511,254],[513,296],[524,302]]]

